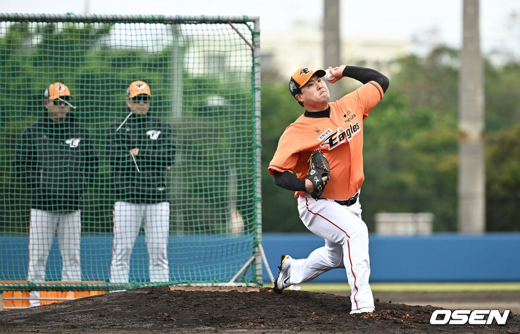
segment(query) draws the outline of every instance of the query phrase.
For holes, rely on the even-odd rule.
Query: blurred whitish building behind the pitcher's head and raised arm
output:
[[[294,22],[291,29],[260,32],[262,70],[278,71],[290,77],[298,67],[323,68],[323,32],[318,22]],[[345,65],[366,66],[383,73],[392,72],[392,60],[410,53],[410,41],[405,39],[367,39],[341,36],[341,62]],[[341,64],[334,64],[341,65]]]

